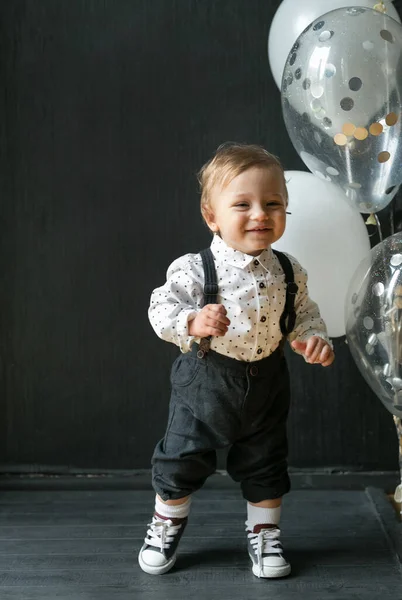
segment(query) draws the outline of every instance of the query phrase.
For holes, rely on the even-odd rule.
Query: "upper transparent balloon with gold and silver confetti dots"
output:
[[[282,107],[307,167],[378,212],[402,182],[402,26],[368,8],[314,21],[286,62]]]

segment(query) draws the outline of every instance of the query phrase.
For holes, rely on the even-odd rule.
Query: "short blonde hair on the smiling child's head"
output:
[[[276,156],[256,144],[227,142],[219,146],[214,156],[205,163],[198,173],[198,181],[201,189],[201,214],[204,220],[205,213],[211,206],[213,188],[216,185],[225,187],[237,175],[252,167],[265,169],[277,167],[283,175],[286,189],[284,169]]]

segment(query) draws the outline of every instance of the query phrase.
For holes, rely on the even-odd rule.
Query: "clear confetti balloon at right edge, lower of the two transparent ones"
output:
[[[345,321],[363,377],[384,406],[402,417],[402,233],[375,246],[358,266]]]

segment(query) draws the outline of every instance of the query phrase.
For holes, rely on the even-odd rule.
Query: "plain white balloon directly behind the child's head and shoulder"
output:
[[[350,278],[370,252],[361,215],[332,183],[311,173],[286,171],[289,211],[284,235],[273,247],[294,255],[307,270],[308,287],[331,337],[345,334]]]

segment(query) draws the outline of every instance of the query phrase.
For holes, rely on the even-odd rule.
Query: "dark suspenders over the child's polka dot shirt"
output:
[[[282,270],[285,274],[286,283],[286,299],[285,308],[279,320],[282,335],[286,338],[291,331],[293,331],[296,322],[295,312],[295,298],[298,291],[298,287],[295,283],[293,267],[288,257],[282,252],[272,250],[275,256],[277,256]],[[201,250],[202,265],[204,267],[204,301],[203,306],[206,304],[217,304],[218,301],[218,279],[216,276],[216,269],[214,263],[214,257],[210,248]],[[202,338],[198,350],[198,357],[202,358],[209,350],[212,336]]]

